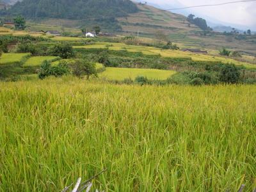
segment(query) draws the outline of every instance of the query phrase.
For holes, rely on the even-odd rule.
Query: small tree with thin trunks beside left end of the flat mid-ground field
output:
[[[74,76],[81,78],[82,76],[86,76],[86,79],[89,79],[90,76],[97,77],[97,69],[95,63],[92,63],[88,60],[81,59],[76,60],[72,64],[72,72]]]

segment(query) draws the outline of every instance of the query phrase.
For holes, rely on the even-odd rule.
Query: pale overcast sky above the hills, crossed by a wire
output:
[[[201,4],[225,3],[237,0],[148,0],[162,6],[164,9],[180,8],[184,6],[195,6]],[[207,17],[211,22],[222,22],[222,24],[236,24],[244,28],[256,31],[256,1],[247,3],[227,4],[223,6],[212,6],[204,8],[191,8],[179,11],[182,13],[194,13],[196,16]]]

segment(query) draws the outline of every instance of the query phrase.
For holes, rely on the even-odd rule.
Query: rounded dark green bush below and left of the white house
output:
[[[70,44],[56,44],[49,48],[48,54],[52,56],[59,56],[63,59],[74,57],[74,51]]]

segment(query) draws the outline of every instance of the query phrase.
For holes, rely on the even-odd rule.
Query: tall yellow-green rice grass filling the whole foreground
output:
[[[256,86],[0,83],[0,191],[256,187]]]

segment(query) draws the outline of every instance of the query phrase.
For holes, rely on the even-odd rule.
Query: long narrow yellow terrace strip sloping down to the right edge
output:
[[[223,63],[234,63],[235,65],[244,65],[246,68],[256,68],[251,63],[236,61],[232,58],[214,56],[209,54],[196,54],[193,52],[184,52],[176,50],[162,50],[156,47],[144,47],[135,45],[126,45],[118,43],[97,42],[93,45],[74,46],[75,49],[109,49],[114,51],[126,50],[129,52],[142,52],[146,55],[161,55],[168,58],[191,58],[193,61],[221,61]]]

